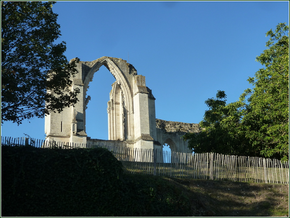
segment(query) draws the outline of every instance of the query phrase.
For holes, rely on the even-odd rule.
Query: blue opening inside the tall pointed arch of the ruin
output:
[[[95,72],[86,92],[86,133],[91,139],[108,140],[108,101],[112,84],[116,81],[110,71],[102,66]]]

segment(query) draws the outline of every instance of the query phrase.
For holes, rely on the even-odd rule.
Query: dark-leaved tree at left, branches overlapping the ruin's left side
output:
[[[21,124],[75,104],[70,87],[79,59],[68,62],[55,2],[1,1],[1,123]]]

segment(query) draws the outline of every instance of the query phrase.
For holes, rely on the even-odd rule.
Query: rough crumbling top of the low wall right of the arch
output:
[[[166,121],[156,119],[156,127],[164,129],[166,132],[200,132],[201,128],[198,123],[182,123],[175,121]]]

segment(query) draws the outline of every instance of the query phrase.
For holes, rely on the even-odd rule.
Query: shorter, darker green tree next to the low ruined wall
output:
[[[246,110],[243,101],[226,104],[226,94],[218,90],[216,99],[205,101],[209,110],[199,123],[202,131],[198,134],[187,133],[189,148],[196,153],[217,152],[229,155],[256,155],[249,150],[249,142],[245,139],[242,117]]]

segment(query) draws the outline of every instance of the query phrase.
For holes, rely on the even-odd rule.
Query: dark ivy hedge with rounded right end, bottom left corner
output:
[[[111,215],[122,174],[122,163],[105,148],[1,146],[1,213]]]

